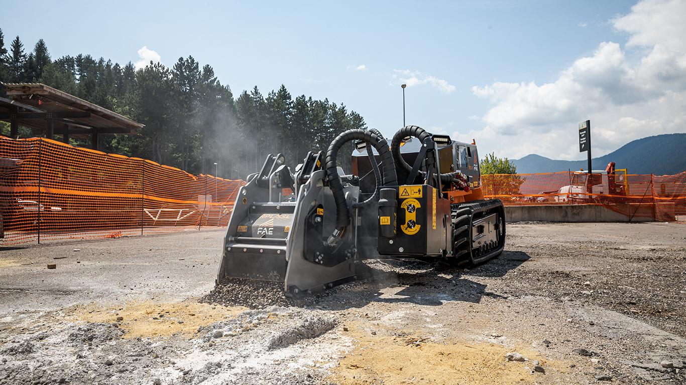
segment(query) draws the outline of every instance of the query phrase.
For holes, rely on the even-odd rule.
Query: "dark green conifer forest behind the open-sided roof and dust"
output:
[[[150,62],[136,69],[88,54],[52,60],[43,39],[26,53],[16,36],[7,49],[1,29],[0,82],[40,82],[145,124],[139,136],[101,135],[102,151],[190,173],[214,173],[216,162],[222,177],[259,171],[269,153],[283,153],[295,165],[307,151],[326,150],[340,132],[366,127],[344,104],[293,97],[283,84],[266,97],[255,86],[234,99],[213,68],[190,55],[171,68]],[[23,127],[20,133],[36,135]],[[0,134],[9,135],[9,125],[0,122]],[[71,138],[71,144],[87,140]],[[352,145],[340,152],[339,164],[349,170],[348,150]]]

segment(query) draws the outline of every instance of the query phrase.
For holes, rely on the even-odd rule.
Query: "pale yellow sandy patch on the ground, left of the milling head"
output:
[[[194,334],[198,327],[233,319],[246,308],[213,306],[195,301],[157,303],[132,301],[115,306],[75,306],[75,321],[119,323],[123,338],[168,337]],[[121,317],[121,318],[119,318]]]

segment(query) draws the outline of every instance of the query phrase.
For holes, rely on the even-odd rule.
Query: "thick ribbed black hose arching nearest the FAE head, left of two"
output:
[[[327,241],[328,245],[337,242],[340,234],[344,232],[345,227],[350,225],[351,222],[350,210],[348,209],[348,203],[343,192],[343,184],[341,183],[340,175],[338,175],[338,169],[336,167],[336,156],[338,156],[338,151],[344,144],[351,140],[363,140],[368,146],[374,146],[381,157],[383,185],[397,186],[398,184],[398,176],[395,173],[395,163],[393,162],[393,156],[388,149],[388,142],[386,142],[386,139],[379,139],[377,134],[365,131],[364,129],[348,129],[348,131],[342,132],[336,136],[333,142],[331,142],[331,145],[329,145],[329,149],[327,149],[326,158],[329,188],[331,188],[333,200],[336,205],[336,229],[332,236],[329,237],[329,240]]]

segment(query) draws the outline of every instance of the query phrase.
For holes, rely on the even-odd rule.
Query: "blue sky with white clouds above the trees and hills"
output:
[[[686,67],[680,42],[662,44],[673,30],[645,38],[654,25],[637,29],[626,21],[635,16],[660,30],[665,23],[678,29],[670,14],[683,6],[683,0],[12,1],[3,3],[3,13],[30,15],[30,23],[10,17],[1,27],[6,42],[19,35],[27,48],[43,38],[53,58],[91,53],[137,62],[146,47],[144,58],[171,66],[193,55],[235,94],[255,85],[266,94],[283,83],[294,96],[342,102],[388,135],[403,123],[400,84],[407,82],[408,124],[476,138],[482,154],[582,159],[574,148],[585,119],[598,132],[596,156],[634,138],[684,131],[678,116],[656,122],[649,104],[683,92],[681,85],[666,82],[641,105],[616,98],[627,88],[613,89],[625,80],[654,82],[629,77],[654,58],[655,47],[667,47],[677,74]],[[607,82],[612,76],[597,73],[608,62],[613,75],[630,69],[626,79]],[[592,100],[574,99],[579,90],[592,92]],[[684,101],[674,103],[661,113],[683,114]],[[626,132],[622,119],[633,119]]]

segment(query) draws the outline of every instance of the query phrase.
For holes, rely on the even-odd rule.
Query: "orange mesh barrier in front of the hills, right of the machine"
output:
[[[686,221],[686,172],[676,175],[588,174],[582,171],[482,175],[484,197],[505,206],[598,205],[629,221]]]

